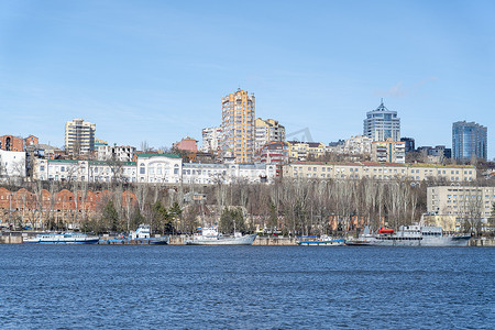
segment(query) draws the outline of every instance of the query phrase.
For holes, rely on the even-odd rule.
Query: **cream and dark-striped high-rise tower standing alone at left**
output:
[[[65,123],[65,152],[69,155],[89,155],[95,148],[96,124],[84,119]]]

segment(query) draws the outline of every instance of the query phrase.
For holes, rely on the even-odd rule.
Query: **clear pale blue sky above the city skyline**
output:
[[[384,98],[417,145],[488,128],[494,1],[0,1],[0,134],[62,146],[84,118],[109,143],[169,146],[254,92],[256,117],[328,144]]]

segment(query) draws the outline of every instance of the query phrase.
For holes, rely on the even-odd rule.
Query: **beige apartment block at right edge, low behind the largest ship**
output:
[[[438,186],[427,188],[428,224],[459,230],[465,219],[486,227],[495,204],[495,187]],[[493,230],[493,229],[492,229]]]

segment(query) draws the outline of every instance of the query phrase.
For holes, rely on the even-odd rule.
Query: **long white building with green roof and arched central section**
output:
[[[136,162],[35,160],[34,178],[144,184],[271,183],[276,177],[273,164],[183,164],[178,155],[136,154]]]

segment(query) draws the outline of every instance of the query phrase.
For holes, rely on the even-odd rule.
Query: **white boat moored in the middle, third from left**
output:
[[[235,232],[233,237],[218,232],[217,227],[198,228],[191,240],[186,240],[186,245],[252,245],[256,234],[243,235]]]

